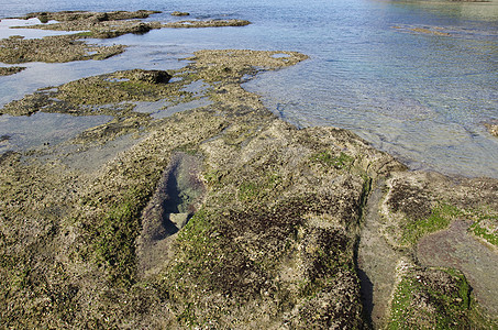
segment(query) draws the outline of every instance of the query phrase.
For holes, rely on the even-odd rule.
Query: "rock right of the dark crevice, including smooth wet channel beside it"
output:
[[[359,267],[365,271],[363,280],[370,286],[366,298],[373,304],[374,324],[399,329],[416,324],[428,329],[496,327],[498,300],[489,293],[496,290],[493,274],[498,271],[495,262],[498,182],[397,172],[381,189],[384,196],[369,208],[378,217],[365,218],[358,251]],[[374,246],[372,242],[377,243]],[[419,284],[413,282],[412,271],[402,271],[402,264],[424,274],[432,272],[431,267],[446,267],[440,270],[461,274],[457,275],[461,285],[472,289],[468,308],[444,311],[441,299],[450,299],[441,292],[447,289],[445,283],[439,283],[438,290],[422,286],[417,295],[408,294],[418,292]],[[379,308],[386,307],[386,287],[391,290],[390,302],[387,314],[380,312],[379,317]],[[466,298],[452,299],[461,302]],[[430,310],[443,316],[431,316]]]

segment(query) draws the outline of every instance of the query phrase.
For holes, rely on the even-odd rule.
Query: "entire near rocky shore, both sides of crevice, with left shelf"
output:
[[[409,172],[346,130],[298,130],[241,87],[303,54],[189,59],[0,109],[113,117],[62,145],[0,155],[2,327],[497,327],[496,301],[472,293],[474,270],[418,257],[422,239],[455,222],[496,254],[497,180]],[[134,111],[200,99],[165,118]],[[108,161],[75,166],[96,154]],[[383,309],[372,308],[378,295]]]

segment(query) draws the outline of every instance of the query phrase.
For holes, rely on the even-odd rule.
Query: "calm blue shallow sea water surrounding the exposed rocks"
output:
[[[413,169],[498,177],[498,139],[484,128],[498,121],[497,0],[0,0],[0,18],[139,9],[163,11],[151,20],[177,20],[169,13],[179,10],[190,12],[190,19],[253,24],[98,41],[130,47],[103,62],[27,64],[18,75],[0,77],[0,106],[85,76],[178,68],[186,64],[179,59],[202,48],[298,51],[310,59],[245,84],[285,120],[301,128],[352,130]],[[0,22],[3,37],[11,31],[1,23],[9,21]],[[12,125],[0,121],[0,135]]]

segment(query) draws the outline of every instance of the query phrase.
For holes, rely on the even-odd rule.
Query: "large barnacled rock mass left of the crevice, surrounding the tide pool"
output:
[[[3,324],[363,327],[354,245],[365,174],[398,165],[346,131],[297,130],[265,110],[240,87],[242,77],[306,58],[274,55],[197,53],[198,63],[181,74],[210,84],[207,92],[215,102],[157,121],[145,139],[91,173],[56,162],[40,180],[33,174],[43,162],[3,160],[2,168],[11,169],[2,169],[2,290],[12,294],[2,304],[23,306],[4,305]],[[117,75],[130,79],[133,73]],[[351,166],[317,164],[313,155],[325,150],[347,155]],[[196,176],[206,196],[178,233],[146,235],[142,228],[157,218],[142,218],[142,210],[179,152],[201,160]],[[34,187],[23,190],[20,179]],[[42,204],[30,208],[24,201],[37,190]],[[62,190],[68,191],[64,200]],[[44,206],[57,211],[45,213]],[[20,241],[23,217],[43,230],[24,231]],[[144,261],[157,246],[167,253]],[[22,304],[27,292],[40,302]]]

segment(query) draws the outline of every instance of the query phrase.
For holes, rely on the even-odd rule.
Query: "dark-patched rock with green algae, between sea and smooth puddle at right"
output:
[[[399,173],[387,183],[383,201],[386,239],[396,248],[412,248],[424,234],[467,219],[486,227],[483,237],[496,241],[498,183],[495,179],[450,178],[435,173]],[[486,223],[486,224],[485,224]]]

